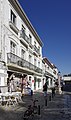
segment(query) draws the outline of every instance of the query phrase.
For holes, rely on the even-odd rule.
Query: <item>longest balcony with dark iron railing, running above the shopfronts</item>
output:
[[[33,70],[37,73],[42,73],[42,70],[40,68],[34,66],[30,62],[18,57],[17,55],[15,55],[13,53],[7,53],[7,63],[8,64],[13,63],[17,66],[22,67],[22,68],[27,68],[27,69]]]

